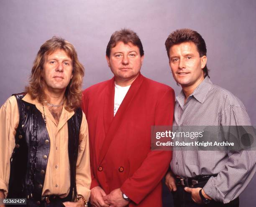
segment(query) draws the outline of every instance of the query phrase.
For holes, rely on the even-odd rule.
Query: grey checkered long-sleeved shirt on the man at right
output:
[[[242,102],[207,76],[184,104],[176,97],[174,126],[250,126]],[[228,203],[246,188],[256,171],[255,151],[174,150],[171,169],[180,177],[218,174],[203,187],[212,199]]]

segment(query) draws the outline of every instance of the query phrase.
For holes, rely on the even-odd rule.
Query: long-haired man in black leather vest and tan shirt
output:
[[[87,203],[89,140],[79,108],[83,76],[67,40],[53,37],[41,45],[25,93],[14,94],[0,109],[0,198],[26,198],[28,206]]]

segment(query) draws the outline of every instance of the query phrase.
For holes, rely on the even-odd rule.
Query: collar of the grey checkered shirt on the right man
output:
[[[205,101],[207,93],[210,91],[212,86],[212,81],[210,80],[209,76],[206,76],[204,80],[197,86],[197,88],[195,88],[194,92],[190,96],[193,96],[195,99],[197,99],[197,101],[199,101],[202,104]],[[180,91],[176,99],[179,105],[183,108],[185,101],[185,95],[183,93],[183,90]]]

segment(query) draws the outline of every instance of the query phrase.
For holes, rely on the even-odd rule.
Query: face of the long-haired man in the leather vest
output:
[[[72,71],[72,59],[64,50],[57,49],[47,55],[41,75],[45,83],[44,89],[49,92],[65,91],[73,77]]]

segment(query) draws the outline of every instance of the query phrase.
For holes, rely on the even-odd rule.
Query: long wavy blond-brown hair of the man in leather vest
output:
[[[77,52],[74,46],[63,38],[54,36],[41,45],[37,53],[31,76],[29,78],[29,85],[26,86],[25,91],[29,93],[33,99],[38,98],[42,102],[45,99],[43,81],[41,73],[44,70],[44,61],[47,55],[53,53],[55,50],[64,50],[67,55],[72,59],[73,77],[65,91],[66,106],[65,109],[72,111],[80,106],[82,98],[82,81],[84,76],[84,67],[78,61]]]

